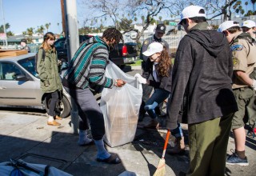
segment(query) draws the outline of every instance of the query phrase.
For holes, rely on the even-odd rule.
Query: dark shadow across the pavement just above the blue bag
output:
[[[40,130],[42,135],[46,133],[45,130]],[[78,136],[74,134],[52,131],[49,138],[44,139],[38,135],[38,139],[30,140],[28,133],[24,138],[0,135],[0,162],[9,162],[10,158],[22,159],[25,162],[54,166],[74,176],[118,175],[126,170],[122,163],[109,165],[97,162],[96,147],[78,146]]]

